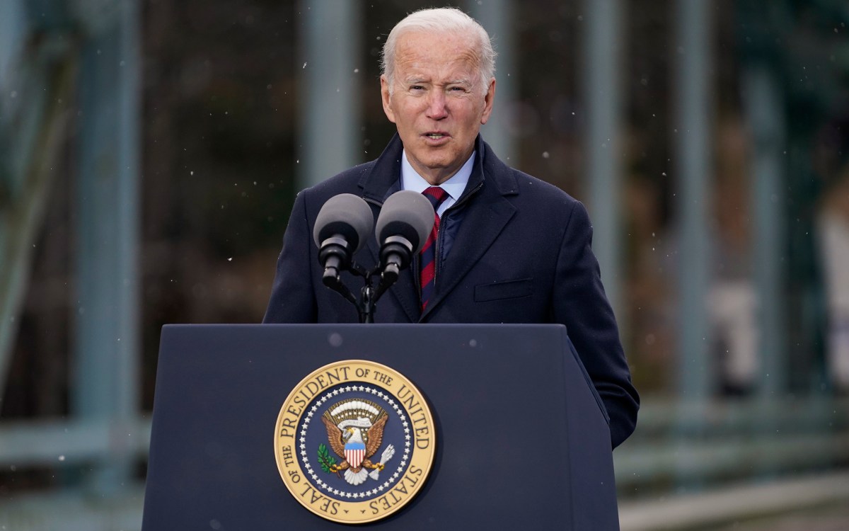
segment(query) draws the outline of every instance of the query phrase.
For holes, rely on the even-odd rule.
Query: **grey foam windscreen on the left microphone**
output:
[[[353,194],[334,195],[318,212],[312,238],[316,246],[320,247],[324,240],[341,234],[353,252],[357,252],[365,245],[372,227],[374,214],[362,197]]]

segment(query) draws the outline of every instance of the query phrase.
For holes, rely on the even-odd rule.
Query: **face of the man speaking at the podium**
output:
[[[483,93],[472,42],[452,33],[402,34],[391,94],[389,80],[380,77],[386,117],[398,127],[413,169],[430,184],[464,165],[492,112],[495,80]]]

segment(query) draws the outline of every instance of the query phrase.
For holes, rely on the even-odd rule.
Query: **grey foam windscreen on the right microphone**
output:
[[[380,209],[374,235],[381,245],[390,236],[403,236],[418,253],[433,229],[433,206],[424,195],[413,190],[401,190],[389,196]]]

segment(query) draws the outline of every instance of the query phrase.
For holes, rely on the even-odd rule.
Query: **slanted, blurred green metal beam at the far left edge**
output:
[[[32,246],[42,225],[57,155],[66,135],[76,60],[66,36],[54,35],[16,58],[8,86],[14,99],[0,116],[0,399]]]

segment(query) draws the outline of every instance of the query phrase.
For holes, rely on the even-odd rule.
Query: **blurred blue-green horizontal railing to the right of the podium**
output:
[[[649,400],[614,461],[627,502],[849,471],[849,398]]]

